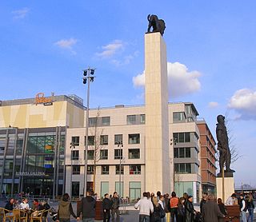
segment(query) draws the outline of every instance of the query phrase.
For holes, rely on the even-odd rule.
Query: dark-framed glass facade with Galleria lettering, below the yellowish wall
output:
[[[65,131],[65,127],[0,129],[1,190],[62,195]]]

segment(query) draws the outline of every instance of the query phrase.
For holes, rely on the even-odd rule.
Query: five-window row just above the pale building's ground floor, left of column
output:
[[[110,165],[102,165],[101,166],[101,174],[106,175],[110,174]],[[115,173],[116,174],[124,174],[124,166],[121,165],[121,172],[120,172],[120,165],[115,166]],[[80,165],[73,165],[72,166],[72,174],[78,175],[80,174]],[[94,174],[94,165],[87,166],[87,174]],[[129,166],[129,174],[141,174],[141,165],[130,165]]]

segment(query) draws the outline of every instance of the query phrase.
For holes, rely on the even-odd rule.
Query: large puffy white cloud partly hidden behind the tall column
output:
[[[195,93],[201,89],[198,71],[189,72],[186,65],[179,62],[167,62],[169,97],[180,97],[189,93]],[[134,86],[145,85],[145,72],[133,77]]]

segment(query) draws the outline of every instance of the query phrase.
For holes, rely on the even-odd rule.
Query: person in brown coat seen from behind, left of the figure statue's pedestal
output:
[[[207,197],[207,202],[202,206],[202,218],[204,222],[218,222],[218,217],[224,218],[218,204],[214,202],[214,196],[209,195]]]

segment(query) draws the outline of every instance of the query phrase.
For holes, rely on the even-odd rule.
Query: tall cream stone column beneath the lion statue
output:
[[[146,191],[170,192],[166,43],[145,34]]]

